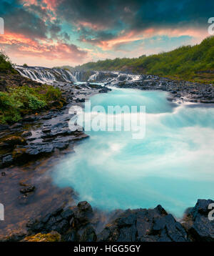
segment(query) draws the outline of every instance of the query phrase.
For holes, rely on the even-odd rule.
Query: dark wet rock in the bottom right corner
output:
[[[184,218],[183,226],[194,241],[214,241],[214,220],[209,220],[208,214],[211,209],[209,205],[213,200],[198,200],[195,207],[188,210]]]

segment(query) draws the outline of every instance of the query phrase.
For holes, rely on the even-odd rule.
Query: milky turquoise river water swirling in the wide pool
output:
[[[214,198],[214,109],[168,102],[165,92],[114,89],[91,106],[146,106],[146,136],[86,132],[89,139],[55,167],[54,183],[103,210],[156,207],[181,217]]]

